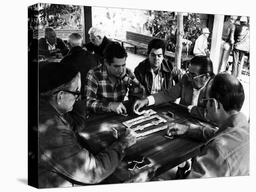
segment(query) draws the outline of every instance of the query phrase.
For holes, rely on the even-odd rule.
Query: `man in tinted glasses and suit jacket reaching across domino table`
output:
[[[133,110],[138,111],[145,105],[159,105],[181,98],[180,105],[188,109],[190,115],[205,120],[204,108],[206,106],[202,102],[202,97],[205,96],[206,84],[213,75],[212,61],[208,57],[194,57],[190,61],[189,69],[178,84],[135,101]]]

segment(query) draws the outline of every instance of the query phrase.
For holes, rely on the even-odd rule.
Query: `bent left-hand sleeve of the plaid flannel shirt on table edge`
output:
[[[84,94],[87,97],[87,109],[94,113],[103,113],[110,111],[111,102],[101,101],[97,99],[98,80],[92,71],[89,71],[86,77],[86,85]]]

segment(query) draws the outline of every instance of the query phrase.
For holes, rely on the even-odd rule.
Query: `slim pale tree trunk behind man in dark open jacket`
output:
[[[177,42],[175,47],[175,68],[176,70],[181,69],[181,59],[182,59],[182,38],[184,36],[183,30],[183,13],[178,12],[177,15]]]

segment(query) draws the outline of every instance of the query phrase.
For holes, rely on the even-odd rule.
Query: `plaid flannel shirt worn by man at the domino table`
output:
[[[85,86],[87,109],[93,110],[94,113],[110,111],[111,102],[122,102],[128,88],[129,99],[131,97],[145,97],[145,88],[136,79],[135,74],[130,69],[126,68],[126,75],[129,77],[128,82],[124,82],[118,78],[114,86],[111,84],[105,64],[101,64],[89,70]],[[139,92],[135,93],[134,88],[138,88]]]

